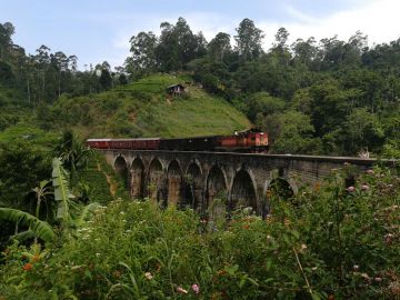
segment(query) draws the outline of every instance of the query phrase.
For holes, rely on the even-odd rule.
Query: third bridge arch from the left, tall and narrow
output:
[[[163,194],[163,170],[162,164],[158,158],[153,158],[149,164],[148,172],[148,194],[152,200],[160,202],[160,206],[166,207]]]

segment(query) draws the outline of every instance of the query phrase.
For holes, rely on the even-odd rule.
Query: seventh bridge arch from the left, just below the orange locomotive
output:
[[[254,177],[250,170],[240,169],[233,178],[230,189],[230,209],[239,207],[251,207],[254,212],[258,211],[258,194]]]

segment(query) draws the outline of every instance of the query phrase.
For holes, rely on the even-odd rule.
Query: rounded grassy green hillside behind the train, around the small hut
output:
[[[188,82],[188,94],[171,98],[166,88]],[[226,100],[210,96],[186,77],[153,74],[111,91],[61,97],[53,114],[83,137],[189,137],[229,134],[251,126]]]

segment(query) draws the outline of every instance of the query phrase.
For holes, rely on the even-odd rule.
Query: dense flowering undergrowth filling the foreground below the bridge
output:
[[[2,252],[6,299],[396,299],[400,180],[341,171],[290,200],[202,220],[114,200],[51,243]]]

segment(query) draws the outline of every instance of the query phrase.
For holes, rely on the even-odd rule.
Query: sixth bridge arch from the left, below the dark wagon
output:
[[[221,206],[227,202],[228,198],[228,184],[227,176],[222,168],[218,164],[213,166],[207,177],[206,183],[206,208],[210,211],[210,214],[220,214],[226,209],[226,206]],[[222,203],[214,203],[216,199],[219,199]]]

